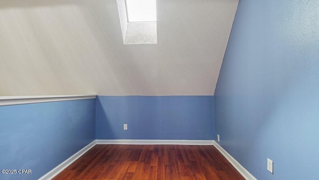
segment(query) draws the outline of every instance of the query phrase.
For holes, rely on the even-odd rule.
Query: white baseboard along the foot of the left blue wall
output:
[[[66,169],[68,166],[70,166],[74,161],[79,159],[84,153],[89,151],[91,148],[95,146],[95,140],[92,141],[90,144],[82,148],[80,151],[75,153],[73,156],[71,156],[69,159],[65,160],[61,164],[59,164],[57,167],[55,167],[53,170],[42,176],[39,180],[51,180],[53,179],[56,175],[61,173],[64,169]]]

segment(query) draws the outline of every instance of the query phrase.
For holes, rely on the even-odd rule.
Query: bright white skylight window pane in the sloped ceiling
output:
[[[156,21],[156,0],[126,0],[128,22]]]

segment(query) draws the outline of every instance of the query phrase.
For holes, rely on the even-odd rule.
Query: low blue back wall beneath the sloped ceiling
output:
[[[213,96],[98,96],[96,139],[213,140],[213,101]]]

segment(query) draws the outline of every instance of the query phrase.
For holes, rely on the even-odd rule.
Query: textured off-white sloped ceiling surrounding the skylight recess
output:
[[[116,0],[1,0],[0,95],[213,95],[238,0],[157,0],[124,45]]]

